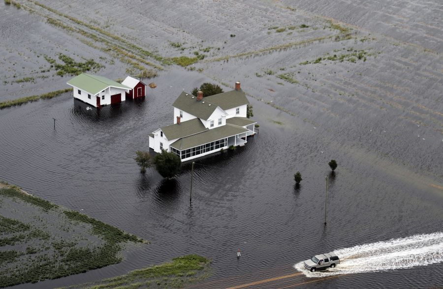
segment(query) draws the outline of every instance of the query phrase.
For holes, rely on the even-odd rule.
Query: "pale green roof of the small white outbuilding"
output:
[[[110,86],[122,89],[130,89],[129,87],[106,77],[87,73],[77,75],[76,77],[69,80],[67,84],[78,87],[79,89],[89,92],[93,95],[107,89]]]

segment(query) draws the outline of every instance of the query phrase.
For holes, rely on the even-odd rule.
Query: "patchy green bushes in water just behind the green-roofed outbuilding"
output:
[[[86,62],[75,62],[72,58],[62,53],[59,54],[59,59],[63,61],[64,64],[57,64],[54,59],[46,55],[44,58],[51,64],[51,67],[54,67],[57,70],[57,75],[60,76],[66,74],[77,75],[90,70],[98,71],[104,67],[103,65],[96,63],[93,59],[89,59]]]

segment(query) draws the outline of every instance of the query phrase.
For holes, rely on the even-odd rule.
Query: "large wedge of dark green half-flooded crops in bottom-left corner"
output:
[[[8,204],[2,207],[8,218],[0,215],[0,247],[16,249],[0,252],[0,288],[115,264],[122,260],[118,255],[122,244],[144,242],[116,227],[26,194],[16,186],[0,189],[0,198]]]

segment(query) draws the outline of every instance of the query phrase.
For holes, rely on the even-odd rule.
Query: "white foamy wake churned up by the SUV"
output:
[[[318,252],[328,253],[328,252]],[[294,268],[307,277],[333,276],[426,266],[443,262],[443,232],[363,244],[333,252],[340,264],[324,271],[310,272],[303,261]]]

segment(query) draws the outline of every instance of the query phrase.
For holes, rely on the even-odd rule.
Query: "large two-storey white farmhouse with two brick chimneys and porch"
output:
[[[246,118],[249,104],[240,82],[235,90],[203,98],[182,92],[172,104],[174,124],[158,128],[149,135],[149,147],[177,154],[189,161],[227,149],[243,146],[249,135],[255,133],[254,124]]]

